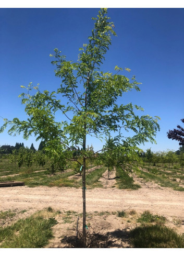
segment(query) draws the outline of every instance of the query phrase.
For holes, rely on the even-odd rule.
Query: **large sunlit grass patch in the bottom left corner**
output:
[[[0,227],[0,248],[42,248],[53,237],[55,218],[44,218],[39,211],[5,228]],[[54,214],[54,213],[50,213]]]

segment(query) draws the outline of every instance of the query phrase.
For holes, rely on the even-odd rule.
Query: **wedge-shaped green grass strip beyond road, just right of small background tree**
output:
[[[138,190],[141,186],[133,184],[133,182],[133,178],[126,171],[122,170],[122,168],[116,168],[116,184],[120,190]]]

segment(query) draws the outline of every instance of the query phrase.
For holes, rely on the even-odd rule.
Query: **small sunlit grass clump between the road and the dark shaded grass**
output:
[[[143,214],[141,214],[141,217],[137,220],[140,223],[152,223],[152,222],[159,222],[159,224],[164,224],[166,221],[166,218],[164,216],[159,215],[153,215],[149,212],[149,210],[145,210]]]

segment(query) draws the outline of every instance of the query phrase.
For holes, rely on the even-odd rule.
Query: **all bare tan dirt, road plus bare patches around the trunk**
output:
[[[131,244],[127,232],[135,227],[136,222],[117,217],[118,210],[135,210],[137,214],[150,210],[152,214],[163,215],[167,218],[167,226],[174,228],[179,233],[184,233],[184,197],[183,192],[163,188],[155,183],[143,183],[134,176],[136,183],[141,185],[139,190],[118,190],[115,188],[115,170],[110,173],[107,180],[107,171],[100,182],[104,188],[94,188],[86,192],[87,225],[91,233],[101,232],[108,235],[111,240],[110,248],[130,248]],[[70,187],[0,187],[0,210],[27,210],[16,215],[11,220],[26,218],[45,207],[60,210],[63,214],[67,211],[82,213],[82,188]],[[105,213],[106,212],[106,213]],[[77,216],[71,221],[64,221],[64,215],[56,217],[58,224],[53,227],[54,239],[46,248],[68,247],[67,237],[75,236]],[[180,225],[179,225],[180,224]],[[79,218],[79,229],[82,226],[82,217]],[[121,234],[121,235],[120,235]]]

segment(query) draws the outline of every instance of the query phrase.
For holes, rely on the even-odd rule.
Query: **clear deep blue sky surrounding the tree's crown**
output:
[[[0,9],[0,116],[9,120],[26,118],[18,95],[20,85],[40,83],[41,90],[53,91],[60,81],[51,64],[54,48],[77,61],[78,49],[88,43],[93,20],[99,8],[1,8]],[[129,92],[121,103],[132,102],[144,108],[144,114],[160,116],[161,131],[157,144],[141,148],[152,151],[177,150],[179,143],[167,138],[184,118],[184,9],[183,8],[109,8],[117,37],[105,55],[104,71],[115,65],[130,68],[141,92]],[[129,75],[126,73],[126,75]],[[3,119],[0,118],[0,126]],[[38,149],[34,137],[0,134],[0,145],[23,142]],[[89,139],[97,150],[101,142]]]

